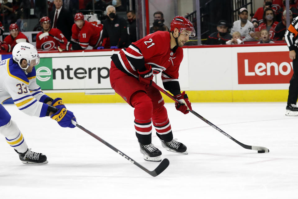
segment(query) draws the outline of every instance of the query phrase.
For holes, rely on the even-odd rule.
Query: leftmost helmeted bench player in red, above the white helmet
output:
[[[1,44],[1,52],[11,52],[17,43],[28,42],[28,38],[19,31],[19,27],[16,24],[11,24],[9,26],[9,33],[7,37],[4,38]]]

